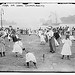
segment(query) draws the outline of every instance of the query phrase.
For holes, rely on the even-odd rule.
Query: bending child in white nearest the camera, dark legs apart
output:
[[[35,58],[34,54],[31,53],[31,52],[26,52],[26,64],[27,64],[28,68],[29,68],[29,63],[30,62],[33,62],[35,68],[37,68],[36,67],[36,58]]]

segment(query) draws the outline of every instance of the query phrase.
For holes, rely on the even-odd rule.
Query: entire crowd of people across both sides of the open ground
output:
[[[66,27],[56,27],[53,28],[52,26],[46,27],[45,29],[38,29],[35,30],[35,35],[40,39],[40,45],[45,45],[46,43],[49,44],[50,53],[56,53],[56,47],[59,47],[60,44],[63,43],[62,51],[61,51],[61,59],[64,58],[64,56],[67,56],[67,59],[70,59],[70,55],[72,55],[71,52],[71,46],[72,41],[75,41],[74,38],[74,31],[75,28],[66,26]],[[32,31],[27,30],[27,35],[30,36]],[[32,52],[29,52],[26,50],[26,48],[23,46],[22,39],[19,37],[19,34],[22,33],[22,30],[17,28],[16,30],[12,28],[12,26],[9,26],[9,28],[1,28],[0,29],[0,55],[1,57],[6,56],[6,49],[5,46],[5,38],[7,37],[9,42],[12,40],[14,42],[13,50],[12,52],[15,53],[16,57],[18,57],[18,54],[22,55],[23,51],[26,52],[26,64],[27,67],[29,67],[29,62],[33,62],[34,66],[37,68],[36,63],[36,57]],[[65,36],[65,38],[62,38],[62,36]],[[9,46],[8,46],[9,47]],[[44,57],[44,56],[43,56]]]

